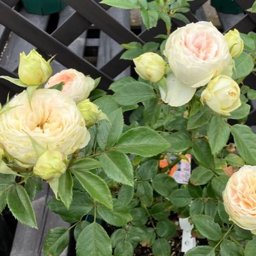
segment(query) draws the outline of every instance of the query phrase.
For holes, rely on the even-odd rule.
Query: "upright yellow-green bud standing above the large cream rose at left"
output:
[[[27,85],[44,84],[52,75],[50,61],[45,61],[42,56],[33,49],[26,56],[20,53],[19,79]]]

